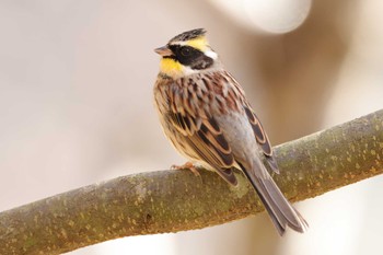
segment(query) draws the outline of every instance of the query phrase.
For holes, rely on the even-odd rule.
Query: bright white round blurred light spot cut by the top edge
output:
[[[236,22],[269,33],[288,33],[309,16],[312,0],[211,0]]]

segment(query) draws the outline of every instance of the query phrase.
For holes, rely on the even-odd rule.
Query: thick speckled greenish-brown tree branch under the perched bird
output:
[[[383,109],[275,148],[274,176],[303,200],[383,172]],[[118,177],[0,213],[0,254],[59,254],[139,234],[200,229],[245,218],[263,206],[240,172],[159,171]]]

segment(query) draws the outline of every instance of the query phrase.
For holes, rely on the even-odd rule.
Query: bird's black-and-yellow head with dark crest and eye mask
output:
[[[204,28],[184,32],[154,51],[162,56],[160,72],[171,78],[207,70],[214,67],[218,59]]]

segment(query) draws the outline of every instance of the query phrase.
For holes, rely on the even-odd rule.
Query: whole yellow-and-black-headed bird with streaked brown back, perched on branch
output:
[[[154,49],[160,71],[154,107],[164,135],[188,162],[236,186],[233,169],[244,173],[278,233],[305,232],[309,224],[292,207],[269,172],[279,169],[269,139],[240,83],[225,71],[205,28],[184,32]]]

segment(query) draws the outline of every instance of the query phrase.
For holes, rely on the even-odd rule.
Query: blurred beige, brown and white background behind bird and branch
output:
[[[0,0],[0,210],[184,159],[152,104],[155,47],[197,27],[274,144],[383,108],[383,2]],[[383,177],[297,204],[305,234],[266,213],[69,253],[380,254]]]

